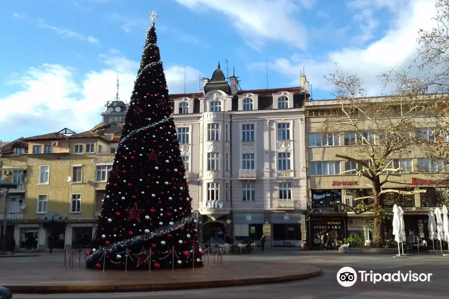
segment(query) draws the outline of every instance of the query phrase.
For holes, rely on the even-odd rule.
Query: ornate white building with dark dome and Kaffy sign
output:
[[[306,155],[301,87],[237,90],[219,68],[204,93],[171,95],[189,190],[204,243],[301,247]],[[306,90],[306,92],[304,92]]]

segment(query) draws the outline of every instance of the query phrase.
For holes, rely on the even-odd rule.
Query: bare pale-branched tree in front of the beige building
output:
[[[393,159],[409,157],[419,150],[421,143],[417,133],[419,128],[427,127],[436,121],[438,101],[433,96],[423,95],[425,84],[422,80],[409,78],[407,73],[384,73],[381,81],[387,90],[394,90],[389,96],[367,97],[363,82],[357,75],[346,74],[337,69],[335,73],[325,76],[334,87],[338,103],[335,115],[327,117],[322,126],[322,133],[352,134],[353,141],[345,144],[346,152],[336,154],[345,161],[352,161],[354,169],[341,172],[356,173],[367,178],[370,183],[370,195],[356,198],[358,201],[368,199],[355,209],[359,212],[371,212],[374,216],[373,243],[383,243],[383,223],[387,213],[383,208],[385,195],[399,193],[412,195],[419,191],[402,191],[386,189],[388,183],[407,183],[396,181],[405,170],[395,165]]]

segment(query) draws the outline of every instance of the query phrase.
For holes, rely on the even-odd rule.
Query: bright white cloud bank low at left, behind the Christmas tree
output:
[[[105,67],[85,74],[58,64],[43,64],[15,74],[9,84],[17,86],[18,91],[0,98],[0,132],[7,132],[8,137],[29,136],[36,128],[41,134],[64,127],[82,132],[98,124],[104,103],[115,98],[117,72],[120,97],[128,101],[139,67],[139,62],[128,60],[118,51],[101,55],[100,59]],[[184,66],[165,67],[170,92],[184,92]],[[198,86],[199,74],[186,67],[187,91],[196,91],[193,88]]]

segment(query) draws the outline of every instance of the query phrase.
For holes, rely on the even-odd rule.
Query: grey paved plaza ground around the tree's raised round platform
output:
[[[52,259],[48,254],[39,259]],[[4,263],[29,263],[29,259],[36,258],[14,258],[0,259],[0,267]],[[7,260],[5,262],[5,260]],[[249,299],[270,298],[277,299],[288,297],[289,299],[397,299],[399,296],[408,299],[447,298],[449,273],[449,257],[436,254],[415,255],[403,259],[395,259],[389,254],[339,254],[337,252],[301,252],[297,250],[275,250],[255,255],[225,256],[225,263],[254,263],[258,264],[284,264],[288,272],[291,265],[304,265],[304,268],[314,266],[323,270],[323,275],[292,283],[268,284],[248,287],[217,288],[189,291],[165,291],[150,293],[108,293],[108,294],[55,294],[55,295],[26,295],[15,294],[13,299],[59,299],[59,298],[83,298],[83,299],[114,299],[114,298],[179,298],[198,299]],[[62,262],[61,262],[62,264]],[[249,265],[249,264],[248,264]],[[412,283],[361,283],[357,282],[349,288],[341,287],[336,280],[337,272],[342,267],[352,267],[356,271],[372,270],[376,273],[394,273],[401,271],[407,273],[432,273],[430,282]],[[2,273],[1,277],[7,275]],[[98,273],[102,275],[101,272]]]

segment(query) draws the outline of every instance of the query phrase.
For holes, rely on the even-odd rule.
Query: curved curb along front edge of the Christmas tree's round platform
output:
[[[109,286],[4,286],[12,294],[64,294],[64,293],[119,293],[155,292],[173,290],[213,289],[239,286],[285,283],[318,277],[321,269],[304,274],[293,274],[263,278],[247,278],[221,281],[179,282],[166,284],[109,285]]]

